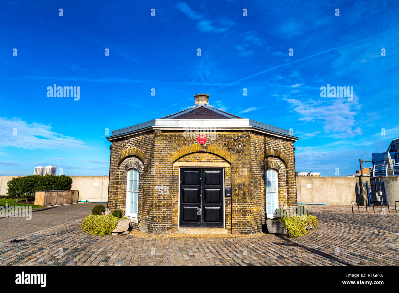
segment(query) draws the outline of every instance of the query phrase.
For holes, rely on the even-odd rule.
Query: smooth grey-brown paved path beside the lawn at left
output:
[[[34,208],[32,209],[32,218],[28,221],[26,217],[10,216],[0,218],[0,241],[84,218],[91,213],[91,209],[95,205],[98,204],[79,203]]]

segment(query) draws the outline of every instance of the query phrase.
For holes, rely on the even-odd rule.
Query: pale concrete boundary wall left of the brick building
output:
[[[0,176],[0,195],[6,195],[7,182],[18,176]],[[107,202],[108,176],[71,176],[72,187],[79,191],[79,201]]]

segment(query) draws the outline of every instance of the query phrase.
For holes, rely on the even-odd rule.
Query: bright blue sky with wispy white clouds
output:
[[[178,112],[197,93],[292,128],[296,171],[352,174],[399,137],[399,2],[347,2],[3,0],[0,175],[108,175],[106,128]],[[80,99],[47,97],[53,84]],[[353,87],[353,100],[321,97],[327,84]]]

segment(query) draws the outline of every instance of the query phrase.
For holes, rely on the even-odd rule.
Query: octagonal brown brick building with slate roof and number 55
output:
[[[277,207],[296,206],[298,138],[218,110],[207,94],[194,97],[191,108],[107,138],[108,207],[153,234],[260,232]]]

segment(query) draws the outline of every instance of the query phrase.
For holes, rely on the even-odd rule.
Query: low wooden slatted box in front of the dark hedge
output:
[[[79,191],[77,190],[46,190],[36,191],[35,205],[53,206],[77,203]]]

